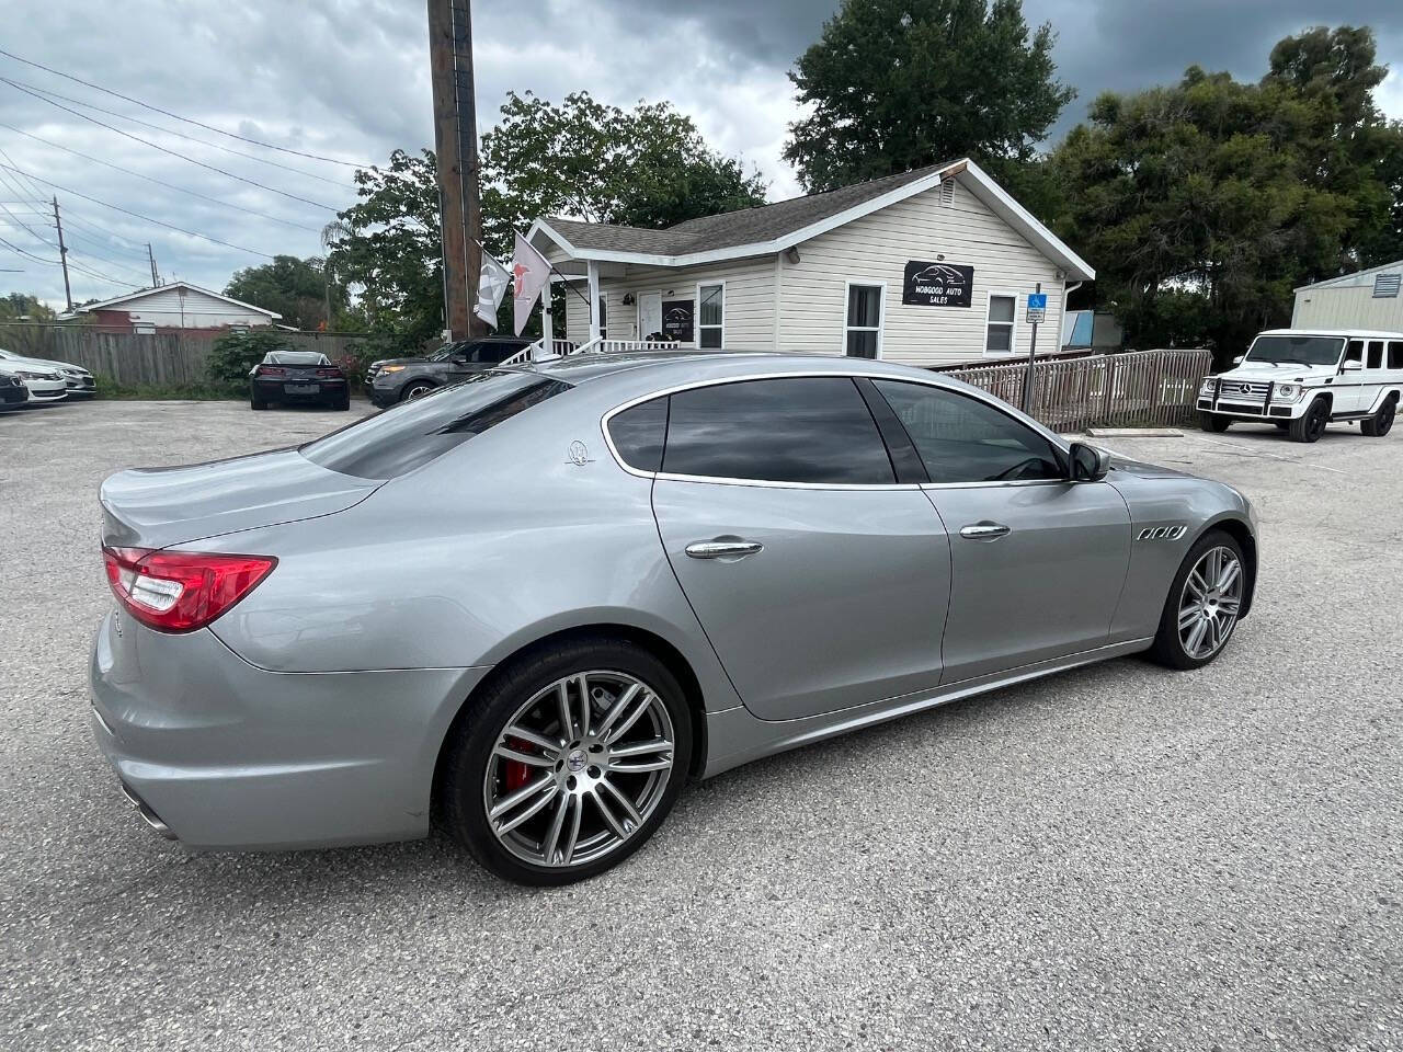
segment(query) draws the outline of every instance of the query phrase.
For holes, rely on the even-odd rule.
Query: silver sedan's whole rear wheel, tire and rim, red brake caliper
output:
[[[438,816],[519,884],[592,877],[672,809],[692,752],[682,687],[652,654],[607,638],[506,669],[452,732]]]

